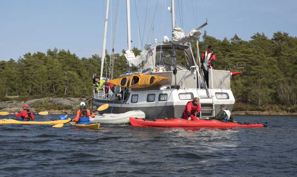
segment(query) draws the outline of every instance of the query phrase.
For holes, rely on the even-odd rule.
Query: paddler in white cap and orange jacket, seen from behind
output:
[[[80,102],[80,109],[76,112],[74,119],[70,119],[71,122],[76,122],[77,124],[91,124],[90,117],[95,117],[92,111],[86,109],[86,103]]]

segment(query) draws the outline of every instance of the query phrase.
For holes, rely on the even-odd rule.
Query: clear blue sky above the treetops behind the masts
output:
[[[79,58],[102,55],[107,0],[0,0],[0,61],[26,53],[69,50]],[[149,5],[147,5],[149,4]],[[168,36],[170,0],[130,0],[132,48]],[[245,41],[255,33],[269,39],[281,31],[297,36],[297,0],[175,0],[176,27],[185,34],[208,20],[207,35],[223,40],[236,34]],[[110,0],[106,50],[127,50],[125,0]],[[202,39],[200,39],[202,40]],[[211,45],[211,44],[209,44]],[[215,47],[215,46],[214,46]]]

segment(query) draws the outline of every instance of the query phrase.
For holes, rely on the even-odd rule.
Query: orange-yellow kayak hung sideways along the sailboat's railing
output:
[[[167,81],[167,78],[154,76],[151,74],[135,74],[135,75],[124,76],[118,79],[109,80],[106,82],[120,87],[142,88],[142,87],[149,87],[164,81]]]

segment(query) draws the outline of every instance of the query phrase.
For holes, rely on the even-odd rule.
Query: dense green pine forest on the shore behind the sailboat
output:
[[[214,46],[216,60],[214,69],[241,71],[231,80],[236,111],[244,111],[252,105],[253,110],[281,108],[296,112],[297,104],[297,38],[277,31],[271,39],[264,33],[256,33],[250,41],[241,40],[236,34],[223,40],[200,36],[200,56],[208,45]],[[192,50],[197,51],[196,42]],[[148,45],[144,46],[145,48]],[[133,48],[136,55],[140,50]],[[128,70],[125,50],[122,54],[106,52],[103,76],[116,78]],[[194,54],[195,55],[195,54]],[[177,57],[179,65],[185,65]],[[114,63],[113,75],[110,73]],[[7,96],[87,97],[92,95],[92,74],[100,75],[101,57],[78,58],[69,50],[48,49],[46,53],[30,52],[18,58],[0,61],[0,101]],[[108,68],[108,69],[106,69]],[[133,67],[133,71],[137,68]]]

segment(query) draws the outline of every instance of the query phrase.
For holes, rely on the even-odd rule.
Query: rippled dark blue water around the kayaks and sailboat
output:
[[[232,129],[2,124],[0,176],[296,176],[296,118],[234,115],[268,127]]]

